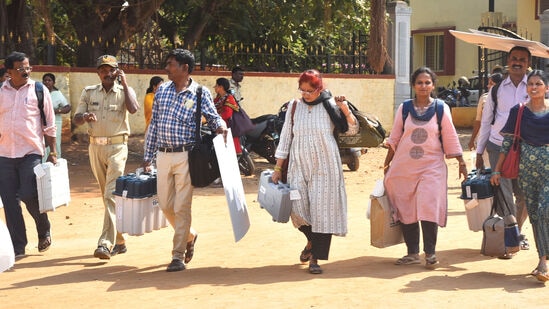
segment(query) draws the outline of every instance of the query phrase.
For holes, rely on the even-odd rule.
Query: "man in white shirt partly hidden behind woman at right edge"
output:
[[[499,132],[507,122],[509,110],[511,107],[528,100],[526,73],[531,63],[532,55],[528,48],[514,46],[509,51],[507,56],[508,76],[500,83],[499,87],[492,87],[482,111],[482,121],[477,139],[477,169],[484,167],[482,153],[485,149],[488,152],[490,166],[496,166],[501,144],[503,143],[503,136]],[[494,90],[497,91],[497,104],[492,100],[491,92]],[[494,106],[496,106],[495,112]],[[511,214],[515,215],[519,229],[522,229],[522,224],[528,217],[528,213],[524,194],[519,189],[517,180],[501,178],[500,186],[507,204],[512,205]],[[513,194],[516,203],[513,203]],[[499,215],[504,215],[501,210],[497,212]],[[521,249],[526,250],[528,248],[528,242],[523,238]],[[507,255],[502,258],[510,257],[510,255]]]

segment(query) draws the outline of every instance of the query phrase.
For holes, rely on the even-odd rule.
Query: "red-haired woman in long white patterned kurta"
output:
[[[309,261],[309,271],[321,273],[319,259],[327,260],[332,234],[347,233],[347,195],[341,158],[334,138],[334,120],[345,122],[346,134],[358,132],[358,121],[344,97],[334,101],[323,91],[320,74],[309,70],[300,76],[302,99],[288,104],[286,120],[275,156],[273,181],[279,180],[282,162],[289,156],[288,183],[299,192],[292,201],[292,222],[307,237],[300,260]],[[329,102],[329,107],[324,104]],[[295,111],[292,112],[295,105]],[[292,125],[293,113],[293,125]],[[335,117],[335,116],[333,116]]]

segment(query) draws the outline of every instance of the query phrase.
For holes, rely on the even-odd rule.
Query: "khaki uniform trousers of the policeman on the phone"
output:
[[[114,244],[125,242],[124,236],[116,230],[116,204],[112,193],[116,188],[116,179],[124,174],[128,146],[126,144],[90,144],[89,154],[91,169],[101,188],[105,205],[103,230],[97,245],[105,246],[110,250]]]

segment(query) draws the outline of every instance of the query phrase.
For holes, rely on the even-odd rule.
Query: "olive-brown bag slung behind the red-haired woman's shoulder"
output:
[[[349,110],[358,120],[359,130],[356,135],[339,134],[337,145],[339,148],[377,147],[383,143],[386,131],[377,117],[363,113],[351,102],[347,101]]]

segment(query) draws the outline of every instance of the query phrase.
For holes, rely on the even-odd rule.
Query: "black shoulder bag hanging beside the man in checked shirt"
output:
[[[198,86],[196,90],[197,105],[196,105],[196,131],[195,144],[189,151],[189,173],[191,174],[191,184],[194,187],[202,188],[210,185],[214,180],[221,176],[219,172],[219,164],[215,155],[212,133],[202,135],[201,133],[201,101],[202,101],[202,86]]]

